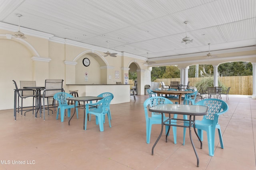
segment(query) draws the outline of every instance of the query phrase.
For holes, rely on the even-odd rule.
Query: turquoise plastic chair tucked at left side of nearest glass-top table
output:
[[[146,141],[147,143],[150,143],[150,135],[151,135],[151,127],[154,124],[162,124],[162,114],[161,113],[155,113],[152,112],[151,117],[148,116],[148,106],[153,107],[159,104],[172,104],[172,102],[164,97],[161,96],[155,96],[151,97],[145,100],[144,102],[144,112],[145,112],[145,117],[146,117]],[[164,115],[164,121],[168,117],[165,117]],[[174,118],[177,118],[177,115],[174,115]],[[176,120],[172,120],[173,124],[176,124]],[[166,125],[166,134],[168,132],[169,126]],[[173,138],[174,138],[174,144],[176,144],[176,137],[177,137],[177,128],[175,126],[172,127],[172,132],[173,132]]]

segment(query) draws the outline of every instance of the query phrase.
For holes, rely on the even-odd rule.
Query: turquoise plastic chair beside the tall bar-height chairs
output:
[[[64,121],[64,112],[65,109],[68,109],[68,117],[70,117],[70,109],[74,108],[75,105],[77,106],[77,102],[75,102],[75,105],[68,105],[68,101],[66,98],[73,98],[71,94],[65,93],[65,92],[59,92],[54,94],[53,98],[58,101],[58,109],[57,109],[57,115],[56,119],[59,117],[59,110],[60,110],[60,121]],[[78,108],[76,107],[76,118],[78,119]]]

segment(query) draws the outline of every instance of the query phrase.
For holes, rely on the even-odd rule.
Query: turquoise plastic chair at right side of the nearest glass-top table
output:
[[[219,99],[204,99],[195,105],[208,106],[208,113],[202,120],[196,120],[195,127],[198,129],[198,135],[203,141],[203,131],[207,133],[209,155],[214,156],[215,129],[218,129],[220,138],[220,147],[224,149],[220,125],[218,124],[219,115],[228,111],[228,105]]]

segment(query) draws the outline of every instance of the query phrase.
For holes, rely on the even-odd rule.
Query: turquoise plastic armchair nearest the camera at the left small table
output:
[[[88,114],[92,114],[96,116],[96,125],[100,126],[101,132],[104,131],[103,123],[104,123],[105,115],[108,115],[108,123],[109,123],[109,127],[111,127],[109,108],[110,108],[110,102],[112,99],[113,99],[113,96],[106,96],[105,98],[103,98],[102,100],[96,103],[85,105],[86,115],[84,116],[84,130],[86,130]]]

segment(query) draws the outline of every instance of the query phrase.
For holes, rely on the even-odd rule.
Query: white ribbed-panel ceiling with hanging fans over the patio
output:
[[[151,61],[256,49],[255,0],[2,0],[0,29],[50,33]],[[181,43],[186,36],[192,43]],[[148,55],[147,55],[148,53]],[[186,59],[184,59],[186,60]],[[198,59],[200,60],[200,58]]]

